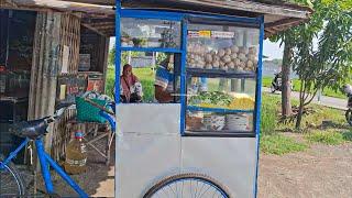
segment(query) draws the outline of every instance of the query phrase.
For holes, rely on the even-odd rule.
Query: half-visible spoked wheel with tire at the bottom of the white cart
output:
[[[179,174],[154,185],[143,198],[230,198],[226,187],[202,174]]]

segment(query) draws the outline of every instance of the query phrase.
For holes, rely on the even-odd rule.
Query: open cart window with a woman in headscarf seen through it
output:
[[[122,52],[120,101],[179,102],[179,70],[180,54]]]

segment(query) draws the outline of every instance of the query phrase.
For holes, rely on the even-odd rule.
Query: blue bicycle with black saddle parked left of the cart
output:
[[[110,103],[114,111],[114,105]],[[59,119],[61,116],[68,107],[59,108],[54,116],[45,117],[38,120],[33,121],[23,121],[13,125],[10,132],[14,133],[18,136],[25,138],[25,140],[20,144],[18,148],[9,154],[8,157],[3,157],[0,155],[0,196],[4,197],[22,197],[25,196],[25,188],[23,179],[21,178],[19,172],[15,166],[11,162],[18,153],[25,147],[25,145],[34,141],[36,146],[36,154],[40,160],[41,165],[41,174],[44,179],[46,193],[50,196],[58,196],[55,194],[54,186],[51,179],[50,166],[54,168],[56,173],[79,195],[79,197],[88,197],[88,195],[77,185],[75,180],[73,180],[65,170],[45,152],[42,138],[47,133],[47,127],[50,123],[54,122],[56,119]],[[99,114],[106,118],[112,131],[116,129],[116,121],[110,117],[114,116],[114,112],[111,112],[107,108],[101,108]],[[50,165],[50,166],[48,166]]]

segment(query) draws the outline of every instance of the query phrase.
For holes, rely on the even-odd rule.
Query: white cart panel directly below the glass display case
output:
[[[182,138],[182,172],[204,173],[232,197],[254,197],[256,139]]]

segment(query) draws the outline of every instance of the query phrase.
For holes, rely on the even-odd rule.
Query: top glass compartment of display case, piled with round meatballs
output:
[[[258,34],[253,28],[189,24],[187,67],[255,72]]]

